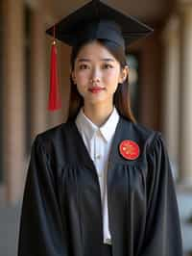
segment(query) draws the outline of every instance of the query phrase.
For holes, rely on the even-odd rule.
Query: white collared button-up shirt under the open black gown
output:
[[[84,115],[83,108],[80,110],[75,121],[97,170],[102,198],[104,243],[108,244],[111,244],[111,235],[108,225],[108,155],[118,121],[119,114],[115,107],[113,107],[113,111],[111,115],[109,115],[108,120],[101,127],[95,125]]]

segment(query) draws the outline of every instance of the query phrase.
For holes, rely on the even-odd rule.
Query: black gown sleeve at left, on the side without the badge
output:
[[[60,207],[53,173],[39,136],[32,146],[25,183],[18,256],[64,256]]]

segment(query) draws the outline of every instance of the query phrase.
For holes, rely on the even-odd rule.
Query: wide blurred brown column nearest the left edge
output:
[[[3,167],[6,200],[23,191],[25,168],[24,1],[4,0]]]

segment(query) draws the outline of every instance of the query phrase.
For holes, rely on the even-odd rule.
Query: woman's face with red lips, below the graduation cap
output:
[[[128,67],[119,62],[98,41],[85,44],[75,61],[72,79],[84,98],[84,105],[112,104],[118,83],[123,83]]]

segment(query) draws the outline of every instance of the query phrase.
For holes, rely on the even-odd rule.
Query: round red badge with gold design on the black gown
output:
[[[121,155],[128,160],[134,160],[139,156],[140,149],[136,142],[126,140],[121,141],[119,145]]]

